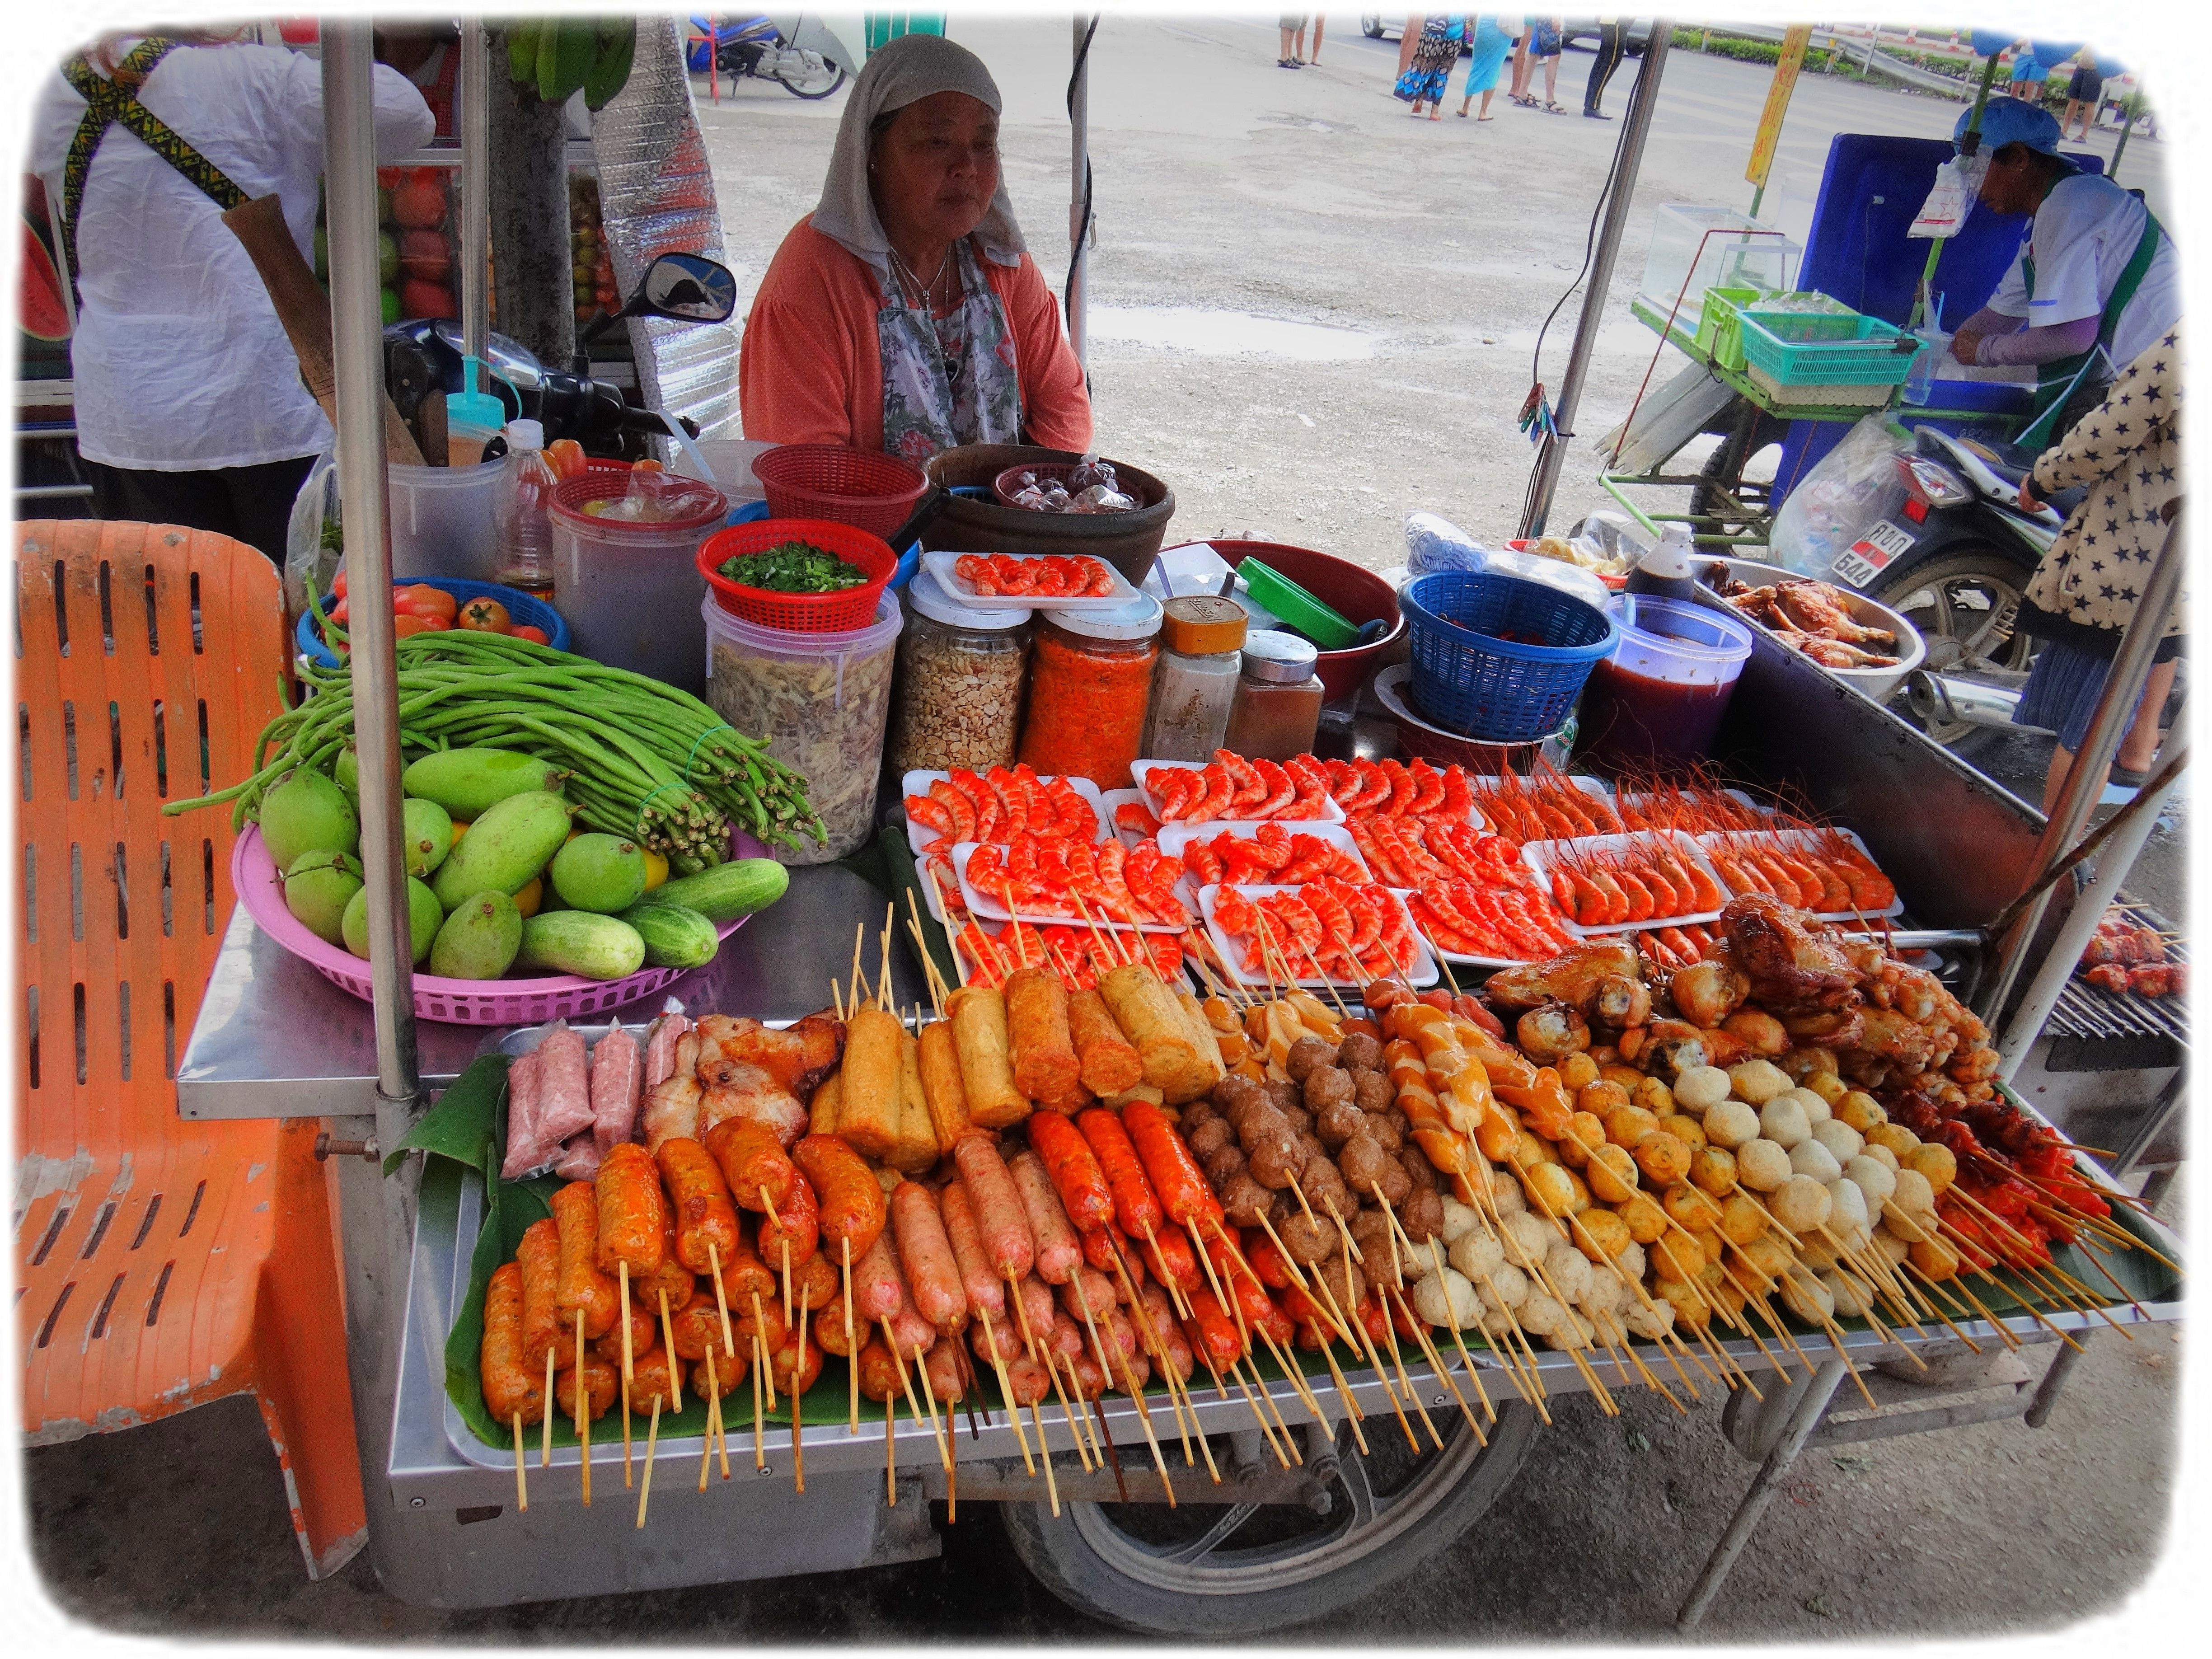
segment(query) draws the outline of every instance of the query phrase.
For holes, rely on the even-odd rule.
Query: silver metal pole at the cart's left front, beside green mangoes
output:
[[[358,595],[392,588],[385,511],[383,303],[376,279],[376,102],[369,22],[323,24],[323,153],[330,192],[330,332],[336,367],[338,489],[345,577]],[[361,757],[361,863],[369,894],[369,984],[376,1011],[376,1139],[414,1121],[414,949],[400,849],[398,661],[392,606],[354,617],[354,748]]]

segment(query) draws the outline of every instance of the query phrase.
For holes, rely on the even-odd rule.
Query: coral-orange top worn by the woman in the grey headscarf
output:
[[[1035,261],[980,261],[1013,327],[1029,442],[1091,447],[1084,365],[1060,330],[1060,301]],[[812,217],[792,226],[761,279],[737,356],[745,436],[783,445],[883,449],[883,358],[876,352],[876,272]]]

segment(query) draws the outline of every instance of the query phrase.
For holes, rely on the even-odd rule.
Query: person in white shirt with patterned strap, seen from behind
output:
[[[378,66],[374,95],[378,159],[429,142],[405,75]],[[281,562],[292,498],[332,431],[221,215],[276,195],[310,252],[321,64],[204,31],[106,38],[40,95],[31,170],[77,288],[77,453],[97,513],[234,535]]]

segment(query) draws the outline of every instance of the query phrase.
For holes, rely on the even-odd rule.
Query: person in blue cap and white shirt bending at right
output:
[[[1951,133],[1962,144],[1973,113]],[[1982,108],[1982,201],[2035,223],[1989,303],[1951,336],[1960,363],[2035,367],[2022,449],[2057,442],[2095,409],[2115,365],[2181,319],[2174,241],[2135,195],[2059,155],[2051,111],[2015,97]]]

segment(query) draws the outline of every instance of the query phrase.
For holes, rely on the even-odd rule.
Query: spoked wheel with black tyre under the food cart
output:
[[[1367,1418],[1369,1455],[1338,1429],[1329,1506],[1002,1504],[1022,1566],[1062,1601],[1124,1630],[1252,1637],[1318,1619],[1405,1577],[1498,1502],[1537,1436],[1535,1409],[1500,1405],[1491,1444],[1436,1411],[1444,1449],[1413,1455]],[[1307,1449],[1307,1462],[1314,1460]],[[1135,1475],[1130,1475],[1135,1482]],[[1186,1486],[1183,1493],[1192,1489]]]

